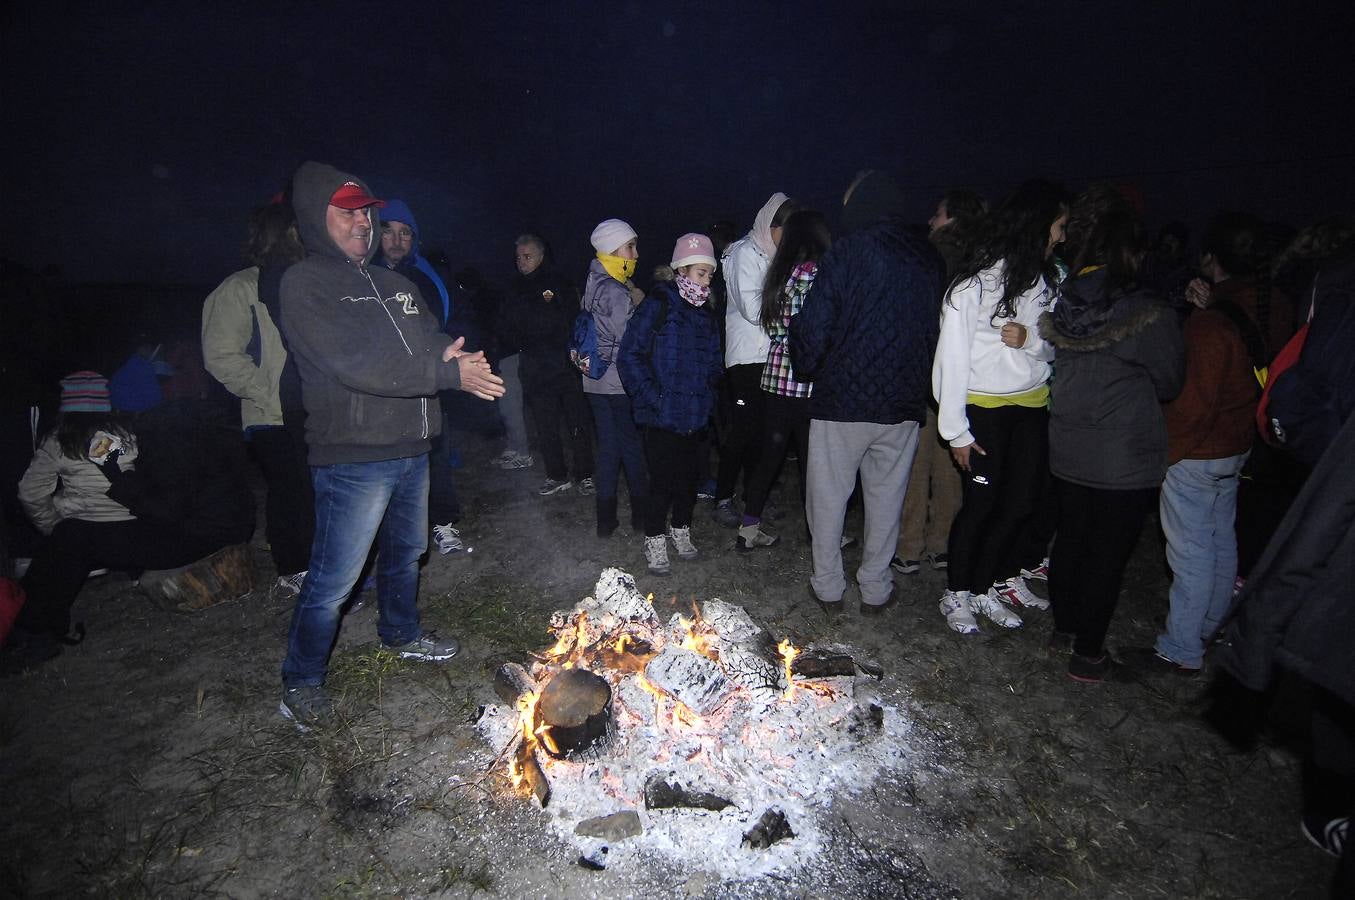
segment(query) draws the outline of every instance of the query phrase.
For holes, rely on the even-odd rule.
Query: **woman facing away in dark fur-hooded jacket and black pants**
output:
[[[1058,354],[1049,465],[1060,523],[1050,553],[1050,649],[1072,649],[1068,674],[1100,682],[1106,633],[1125,564],[1167,470],[1161,404],[1184,382],[1175,313],[1140,283],[1141,228],[1110,186],[1073,203],[1068,279],[1039,323]]]

